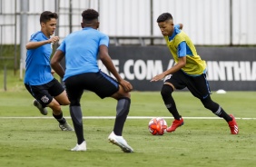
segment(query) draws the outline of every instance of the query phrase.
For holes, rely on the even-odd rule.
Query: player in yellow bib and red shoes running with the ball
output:
[[[173,24],[172,15],[169,13],[159,15],[157,23],[176,63],[151,80],[151,82],[157,82],[165,77],[161,90],[162,100],[174,117],[174,121],[167,128],[167,132],[172,133],[183,124],[182,116],[172,98],[172,92],[175,89],[187,87],[193,96],[201,100],[205,108],[229,124],[231,134],[238,134],[239,128],[234,116],[226,113],[218,103],[211,99],[211,91],[206,79],[206,63],[197,54],[192,40],[180,30],[180,25]]]

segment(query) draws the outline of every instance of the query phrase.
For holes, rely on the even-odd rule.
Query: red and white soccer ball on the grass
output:
[[[161,117],[155,117],[149,122],[149,132],[153,135],[162,135],[166,132],[167,123]]]

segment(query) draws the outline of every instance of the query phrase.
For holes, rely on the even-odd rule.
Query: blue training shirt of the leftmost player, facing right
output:
[[[43,32],[38,31],[31,35],[30,42],[39,42],[48,40]],[[50,57],[52,54],[52,45],[44,44],[35,49],[29,49],[25,58],[25,80],[24,83],[30,85],[41,85],[49,83],[54,79],[51,74]]]

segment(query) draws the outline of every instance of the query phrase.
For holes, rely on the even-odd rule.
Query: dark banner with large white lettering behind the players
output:
[[[118,72],[136,91],[160,91],[162,81],[150,80],[174,64],[166,46],[110,46],[109,52]],[[255,47],[197,47],[197,52],[208,65],[212,91],[256,90]],[[109,74],[101,61],[99,67]]]

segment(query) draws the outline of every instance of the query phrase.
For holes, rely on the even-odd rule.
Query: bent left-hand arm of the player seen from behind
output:
[[[64,58],[64,53],[61,50],[57,50],[51,59],[51,66],[54,69],[55,73],[58,74],[60,77],[64,77],[64,69],[60,64]]]

